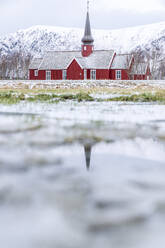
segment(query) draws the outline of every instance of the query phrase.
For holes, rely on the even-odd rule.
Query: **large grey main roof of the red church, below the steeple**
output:
[[[46,52],[39,70],[67,69],[76,59],[83,69],[109,69],[114,57],[113,50],[96,50],[88,57],[83,57],[81,51],[50,51]],[[36,61],[37,64],[37,61]],[[35,61],[32,63],[35,65]],[[30,66],[32,68],[32,66]],[[33,69],[37,69],[33,67]]]

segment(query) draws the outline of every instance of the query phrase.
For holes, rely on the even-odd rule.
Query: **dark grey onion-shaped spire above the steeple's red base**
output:
[[[87,11],[86,24],[85,24],[85,32],[84,32],[84,37],[82,38],[81,41],[85,45],[92,45],[93,42],[94,42],[94,39],[92,37],[92,32],[91,32],[91,25],[90,25],[90,19],[89,19],[89,11]]]

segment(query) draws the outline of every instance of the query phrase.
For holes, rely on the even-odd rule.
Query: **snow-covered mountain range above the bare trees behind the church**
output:
[[[83,29],[34,26],[0,37],[0,54],[23,51],[41,56],[46,50],[79,49]],[[118,30],[93,30],[96,49],[130,52],[160,49],[165,54],[165,22]]]

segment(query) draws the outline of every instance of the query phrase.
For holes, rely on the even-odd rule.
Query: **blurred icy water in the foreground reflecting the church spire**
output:
[[[164,248],[165,107],[0,106],[3,248]]]

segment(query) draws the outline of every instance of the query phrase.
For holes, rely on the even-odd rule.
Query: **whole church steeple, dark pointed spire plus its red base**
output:
[[[92,37],[90,18],[89,18],[89,0],[87,0],[87,16],[85,23],[85,32],[82,38],[82,56],[88,57],[93,52],[93,42]]]

